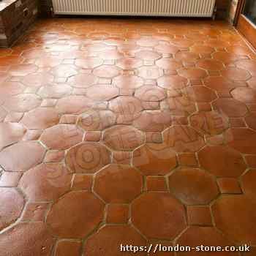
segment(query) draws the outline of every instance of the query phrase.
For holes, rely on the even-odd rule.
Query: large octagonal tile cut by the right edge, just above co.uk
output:
[[[255,203],[244,195],[230,195],[219,198],[212,206],[212,213],[217,228],[231,241],[255,244],[255,207]]]

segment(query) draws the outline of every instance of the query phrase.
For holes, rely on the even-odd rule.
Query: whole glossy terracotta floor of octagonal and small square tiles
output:
[[[41,20],[0,72],[1,256],[256,246],[256,56],[232,27]]]

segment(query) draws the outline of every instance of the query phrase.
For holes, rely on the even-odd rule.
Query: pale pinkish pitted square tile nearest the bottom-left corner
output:
[[[48,208],[48,203],[28,203],[24,210],[22,221],[43,222]]]

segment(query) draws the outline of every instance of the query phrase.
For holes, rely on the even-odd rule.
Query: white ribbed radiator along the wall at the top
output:
[[[215,0],[53,0],[57,15],[211,17]]]

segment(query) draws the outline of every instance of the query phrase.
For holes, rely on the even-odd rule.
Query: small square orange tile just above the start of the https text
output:
[[[129,218],[129,206],[110,204],[108,205],[107,222],[115,224],[127,223]]]

